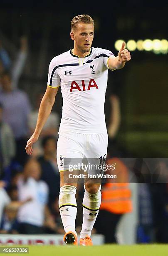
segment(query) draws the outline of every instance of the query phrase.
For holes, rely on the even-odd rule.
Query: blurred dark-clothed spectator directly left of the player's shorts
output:
[[[54,136],[46,136],[42,139],[42,148],[44,155],[38,158],[40,162],[42,175],[41,179],[44,180],[49,187],[49,208],[52,210],[52,204],[56,197],[59,196],[60,178],[57,166],[56,150],[57,140]]]

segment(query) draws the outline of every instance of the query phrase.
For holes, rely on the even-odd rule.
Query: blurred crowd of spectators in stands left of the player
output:
[[[44,95],[37,95],[33,109],[18,87],[27,54],[25,36],[14,60],[0,42],[0,233],[64,233],[57,206],[57,113],[44,125],[33,157],[25,152]]]

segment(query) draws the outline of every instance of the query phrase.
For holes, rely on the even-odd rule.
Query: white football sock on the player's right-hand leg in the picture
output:
[[[90,194],[84,187],[84,199],[83,199],[83,224],[80,234],[80,238],[91,236],[91,230],[96,221],[100,204],[101,204],[101,186],[96,194]]]

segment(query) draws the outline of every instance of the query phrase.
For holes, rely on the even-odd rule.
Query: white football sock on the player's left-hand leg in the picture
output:
[[[65,233],[72,231],[77,235],[75,231],[75,219],[77,216],[76,190],[76,187],[70,185],[61,187],[58,203]]]

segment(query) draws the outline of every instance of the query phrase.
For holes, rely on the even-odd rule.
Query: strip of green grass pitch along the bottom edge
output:
[[[27,256],[168,256],[168,245],[28,246]],[[4,255],[4,254],[2,254]]]

